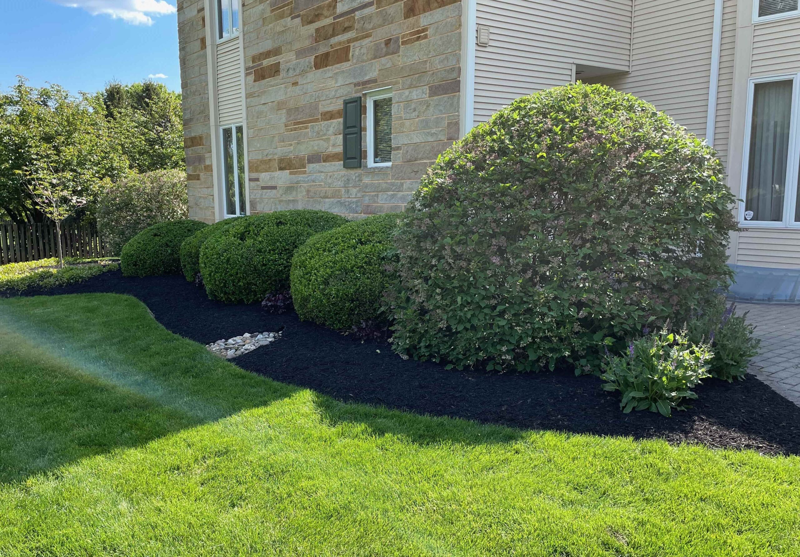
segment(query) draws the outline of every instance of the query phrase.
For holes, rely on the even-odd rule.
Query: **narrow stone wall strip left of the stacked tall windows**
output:
[[[183,145],[189,217],[214,222],[206,10],[203,0],[178,0],[178,49],[183,94]]]

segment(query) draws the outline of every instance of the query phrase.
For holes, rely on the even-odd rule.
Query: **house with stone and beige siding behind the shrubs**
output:
[[[800,275],[798,0],[179,0],[178,30],[193,218],[402,210],[466,130],[582,80],[718,150],[741,277]]]

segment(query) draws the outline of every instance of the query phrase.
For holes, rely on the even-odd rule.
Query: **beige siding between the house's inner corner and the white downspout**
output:
[[[706,134],[714,0],[636,0],[630,74],[597,78]]]

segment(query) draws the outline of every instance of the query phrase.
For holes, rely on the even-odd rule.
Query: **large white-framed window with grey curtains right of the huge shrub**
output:
[[[750,80],[742,226],[800,227],[798,84],[800,74]]]

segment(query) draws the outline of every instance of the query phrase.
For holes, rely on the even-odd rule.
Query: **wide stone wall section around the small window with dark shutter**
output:
[[[325,209],[358,217],[402,210],[431,161],[459,135],[460,0],[243,4],[251,213]],[[194,86],[201,73],[196,50],[182,42],[187,130],[194,130],[186,135],[207,142],[207,93]],[[190,98],[187,85],[197,91]],[[367,168],[364,153],[361,169],[342,168],[342,101],[386,86],[394,95],[391,167]],[[199,215],[210,198],[210,174],[207,157],[194,160],[201,153],[194,150],[200,145],[189,147],[194,137],[187,137],[186,153],[198,163],[190,170],[190,203],[202,204],[194,208]]]

